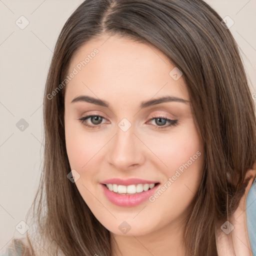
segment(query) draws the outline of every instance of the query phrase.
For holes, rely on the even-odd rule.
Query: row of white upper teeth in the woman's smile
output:
[[[151,184],[133,184],[133,185],[117,185],[117,184],[106,184],[106,187],[113,192],[120,193],[120,194],[134,194],[140,193],[142,191],[147,191],[149,188],[154,187],[154,183]]]

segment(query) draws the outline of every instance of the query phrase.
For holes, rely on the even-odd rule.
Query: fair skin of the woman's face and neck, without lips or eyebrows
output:
[[[65,87],[67,155],[71,169],[80,175],[75,185],[95,217],[110,231],[121,255],[184,255],[184,221],[198,190],[204,161],[184,79],[174,80],[169,75],[175,65],[157,48],[117,35],[104,35],[82,45],[72,56],[68,74],[94,48],[99,52]],[[108,107],[71,102],[80,95],[102,99]],[[186,101],[140,109],[142,101],[163,96]],[[102,121],[78,120],[90,114],[102,116]],[[177,124],[168,126],[166,121],[162,128],[157,118],[152,119],[159,115],[177,120]],[[126,131],[118,126],[123,118],[131,124]],[[200,156],[153,202],[118,206],[102,192],[100,181],[114,177],[157,180],[161,187],[197,151]],[[118,228],[123,221],[130,226],[125,234]],[[112,256],[120,255],[114,242],[111,246]]]

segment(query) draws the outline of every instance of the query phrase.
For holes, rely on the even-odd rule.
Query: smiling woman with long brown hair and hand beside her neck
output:
[[[255,255],[254,105],[205,2],[84,1],[54,49],[44,128],[24,255]]]

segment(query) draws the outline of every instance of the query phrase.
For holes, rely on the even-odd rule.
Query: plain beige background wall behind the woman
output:
[[[15,226],[23,225],[38,185],[47,69],[62,25],[81,2],[0,0],[0,249],[18,234]],[[207,2],[234,21],[230,30],[243,52],[256,102],[256,0]]]

